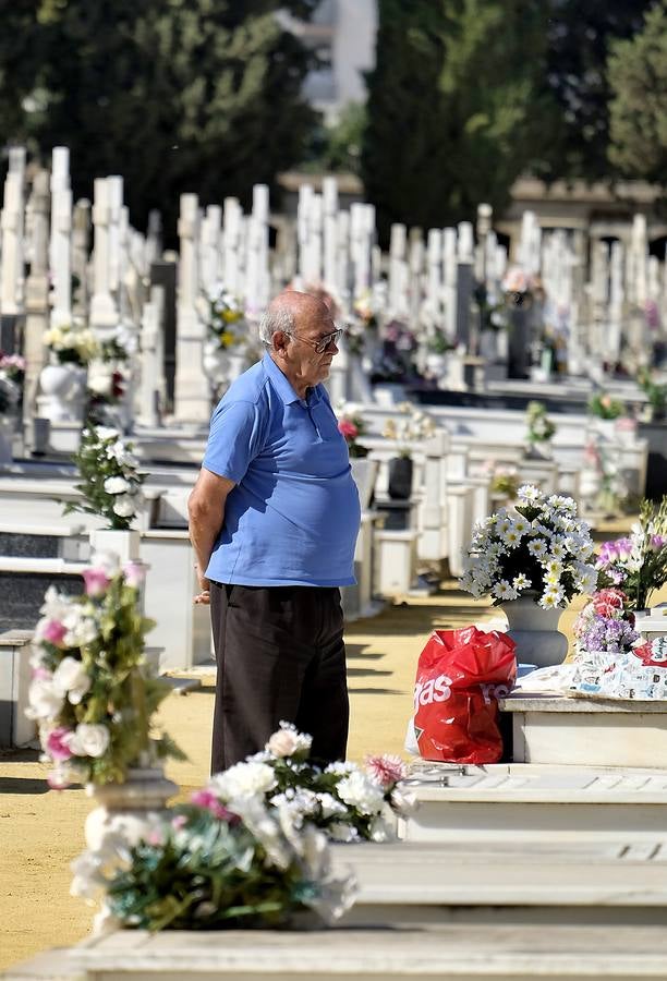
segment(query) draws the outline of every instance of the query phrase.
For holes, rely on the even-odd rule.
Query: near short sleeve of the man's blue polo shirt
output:
[[[253,402],[221,402],[210,421],[203,467],[238,484],[262,449],[263,429]]]

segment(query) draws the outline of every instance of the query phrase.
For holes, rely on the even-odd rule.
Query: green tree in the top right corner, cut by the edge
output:
[[[643,31],[617,41],[609,55],[609,159],[622,173],[667,183],[667,2]]]

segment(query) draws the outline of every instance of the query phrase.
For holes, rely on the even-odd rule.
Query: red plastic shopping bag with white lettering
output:
[[[476,627],[432,633],[414,685],[414,735],[423,759],[498,762],[497,700],[517,677],[514,646],[507,633]]]

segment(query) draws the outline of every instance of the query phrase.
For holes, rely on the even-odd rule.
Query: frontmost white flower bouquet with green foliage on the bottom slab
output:
[[[326,835],[266,802],[269,766],[247,767],[226,804],[198,791],[155,815],[142,840],[109,833],[74,860],[73,895],[102,900],[98,932],[289,927],[303,910],[331,923],[352,906],[356,882],[331,868]]]

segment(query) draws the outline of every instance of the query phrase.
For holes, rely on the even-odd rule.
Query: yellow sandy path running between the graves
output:
[[[575,613],[568,610],[561,619],[568,634]],[[433,628],[482,621],[502,626],[505,617],[445,582],[433,596],[405,597],[377,617],[349,625],[350,759],[405,755],[414,673],[426,638]],[[189,756],[168,766],[183,799],[208,775],[214,674],[213,668],[197,674],[201,688],[186,695],[174,692],[161,712],[161,723]],[[47,768],[37,752],[0,753],[0,970],[82,940],[92,921],[93,910],[69,894],[69,863],[84,847],[90,801],[82,789],[48,791]]]

